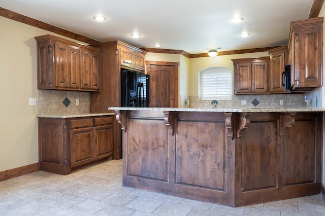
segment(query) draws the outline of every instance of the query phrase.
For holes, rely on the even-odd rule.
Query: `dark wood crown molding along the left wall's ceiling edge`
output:
[[[44,30],[48,30],[48,31],[63,35],[65,37],[68,37],[68,38],[71,38],[71,39],[75,39],[75,40],[84,42],[84,43],[87,43],[87,44],[90,44],[90,45],[101,43],[99,41],[87,38],[87,37],[85,37],[83,35],[68,31],[66,29],[56,27],[54,25],[47,24],[45,22],[30,18],[30,17],[26,17],[24,15],[15,13],[13,11],[9,11],[9,10],[4,9],[4,8],[0,8],[0,16],[6,17],[8,19],[15,20],[17,22],[21,22],[21,23],[24,23],[24,24],[27,24],[27,25],[38,27],[38,28],[41,28],[41,29],[44,29]]]

